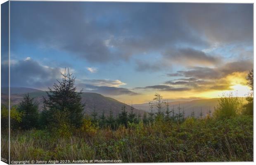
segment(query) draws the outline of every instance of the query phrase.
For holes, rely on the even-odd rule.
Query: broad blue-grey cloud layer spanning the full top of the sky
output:
[[[252,41],[252,6],[15,1],[11,5],[12,42],[22,38],[103,63],[161,52],[180,43],[193,47],[209,46],[217,39]],[[192,49],[178,53],[207,63],[218,61]]]

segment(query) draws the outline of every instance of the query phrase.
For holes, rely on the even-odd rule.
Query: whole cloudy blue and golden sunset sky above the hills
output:
[[[11,1],[10,20],[14,87],[47,90],[66,67],[126,103],[249,91],[252,4]]]

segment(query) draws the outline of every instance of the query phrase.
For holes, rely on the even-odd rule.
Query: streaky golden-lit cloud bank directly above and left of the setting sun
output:
[[[195,91],[232,90],[234,83],[244,85],[246,72],[252,67],[251,61],[229,62],[216,68],[191,67],[186,71],[177,71],[177,74],[185,78],[169,80],[164,84],[192,87]]]

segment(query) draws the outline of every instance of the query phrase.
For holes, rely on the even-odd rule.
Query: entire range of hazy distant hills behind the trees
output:
[[[23,99],[26,93],[29,93],[31,97],[39,104],[40,110],[43,107],[43,96],[47,96],[45,91],[36,90],[33,88],[23,88],[23,87],[12,87],[11,88],[11,105],[17,105]],[[20,92],[20,93],[19,93]],[[5,103],[8,101],[7,95],[1,94],[1,101]],[[113,115],[118,115],[121,111],[121,106],[123,103],[113,99],[111,97],[104,97],[98,93],[91,92],[83,92],[81,94],[82,102],[85,103],[84,112],[86,114],[90,114],[93,111],[95,106],[96,112],[98,115],[104,111],[105,115],[109,115],[110,109],[113,111]],[[245,98],[241,98],[242,101],[245,101]],[[174,112],[178,113],[178,106],[180,104],[181,111],[185,111],[185,116],[190,116],[192,110],[194,109],[195,116],[197,117],[202,110],[203,115],[205,116],[209,110],[213,113],[214,107],[218,105],[219,98],[214,99],[197,99],[192,101],[173,101],[169,102],[169,110],[171,111],[174,108]],[[143,115],[144,112],[149,112],[149,104],[133,104],[134,112],[137,114]],[[163,108],[164,112],[166,111],[166,107]],[[130,106],[126,104],[126,110],[130,112]],[[154,112],[156,112],[156,108],[154,107]]]

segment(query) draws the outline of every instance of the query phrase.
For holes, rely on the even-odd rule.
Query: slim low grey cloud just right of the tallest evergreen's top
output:
[[[80,83],[77,85],[78,88],[83,88],[83,92],[94,92],[94,93],[100,93],[105,95],[137,95],[138,93],[130,91],[126,88],[121,87],[107,87],[107,86],[95,86],[95,85],[87,85]]]

